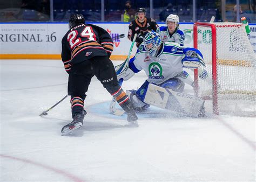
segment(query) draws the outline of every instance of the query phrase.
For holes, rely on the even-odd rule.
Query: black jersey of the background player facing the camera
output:
[[[140,23],[138,18],[133,20],[129,25],[128,38],[132,41],[134,34],[138,34],[136,39],[137,46],[143,42],[143,38],[147,34],[147,32],[153,30],[157,31],[158,25],[156,20],[153,18],[145,18],[143,23]]]

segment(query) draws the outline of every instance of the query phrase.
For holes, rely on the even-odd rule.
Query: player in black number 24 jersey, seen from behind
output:
[[[85,93],[94,75],[126,111],[127,120],[137,124],[138,118],[129,97],[118,85],[116,71],[109,59],[112,51],[113,40],[107,31],[86,24],[81,14],[71,15],[69,31],[62,39],[62,61],[69,74],[68,94],[71,96],[73,121],[62,128],[63,135],[82,127],[86,115]]]

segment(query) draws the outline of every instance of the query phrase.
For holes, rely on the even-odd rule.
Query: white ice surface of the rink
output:
[[[115,65],[122,61],[113,61]],[[94,77],[82,128],[69,136],[68,74],[61,60],[1,60],[0,181],[255,181],[255,117],[181,117],[151,107],[109,114],[111,95]],[[144,72],[123,83],[137,89]],[[186,87],[186,92],[192,88]],[[228,103],[227,103],[228,104]]]

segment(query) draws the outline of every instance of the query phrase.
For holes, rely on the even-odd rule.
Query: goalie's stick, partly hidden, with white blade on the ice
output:
[[[131,44],[131,47],[130,47],[130,51],[127,55],[126,60],[122,64],[117,65],[117,66],[114,67],[117,74],[123,74],[129,68],[129,60],[130,60],[130,56],[131,56],[131,53],[132,53],[132,48],[134,46],[137,35],[138,35],[137,33],[134,34],[132,44]],[[118,84],[120,86],[122,86],[122,83],[123,83],[123,79],[118,80]],[[114,97],[113,97],[112,101],[110,102],[110,105],[109,105],[110,113],[112,113],[114,115],[117,115],[117,116],[122,116],[124,114],[124,110],[117,109],[116,108],[116,102],[117,102],[116,99],[114,99]]]

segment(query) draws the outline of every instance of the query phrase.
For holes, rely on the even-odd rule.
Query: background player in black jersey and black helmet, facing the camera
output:
[[[139,8],[137,10],[137,17],[138,18],[133,20],[129,25],[128,38],[132,41],[134,34],[137,33],[136,45],[139,47],[139,45],[143,43],[147,32],[151,30],[157,31],[158,25],[153,18],[146,18],[145,8]]]

